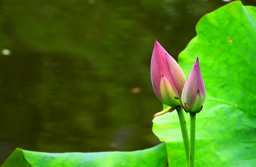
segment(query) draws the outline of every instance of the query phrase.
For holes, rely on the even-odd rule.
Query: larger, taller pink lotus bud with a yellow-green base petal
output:
[[[156,40],[151,59],[151,81],[162,103],[171,107],[181,105],[186,77],[175,59]]]

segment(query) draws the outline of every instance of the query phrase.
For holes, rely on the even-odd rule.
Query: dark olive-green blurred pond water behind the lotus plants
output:
[[[0,1],[0,164],[17,147],[98,152],[159,144],[154,40],[177,60],[198,20],[227,3]]]

